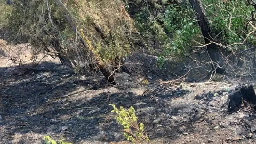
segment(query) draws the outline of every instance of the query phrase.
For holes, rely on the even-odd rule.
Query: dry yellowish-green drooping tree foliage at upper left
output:
[[[132,51],[136,29],[120,0],[27,0],[16,1],[12,6],[4,5],[4,0],[0,2],[4,8],[0,10],[0,26],[11,30],[9,41],[47,49],[54,38],[60,42],[62,55],[85,60],[91,57],[91,51],[93,58],[106,64]],[[80,46],[76,31],[90,49]],[[79,50],[74,51],[75,47]]]

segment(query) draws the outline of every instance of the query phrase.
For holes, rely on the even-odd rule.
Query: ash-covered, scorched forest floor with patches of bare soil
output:
[[[8,47],[6,55],[18,54],[17,47]],[[144,63],[144,74],[154,81],[143,84],[141,75],[118,73],[116,87],[94,89],[103,78],[100,74],[96,78],[74,75],[50,57],[44,58],[46,63],[39,64],[36,70],[23,71],[22,66],[3,55],[0,54],[0,143],[38,144],[46,135],[54,140],[66,138],[73,144],[126,143],[109,104],[133,106],[138,122],[145,124],[150,143],[256,143],[255,113],[241,109],[229,114],[225,105],[228,93],[238,83],[254,84],[250,77],[167,86],[156,79],[175,79],[174,73],[182,76],[187,67],[196,64],[191,60],[173,63],[165,65],[169,69],[164,71]],[[18,55],[26,59],[31,52],[28,49]],[[201,78],[208,70],[206,66],[189,76]]]

